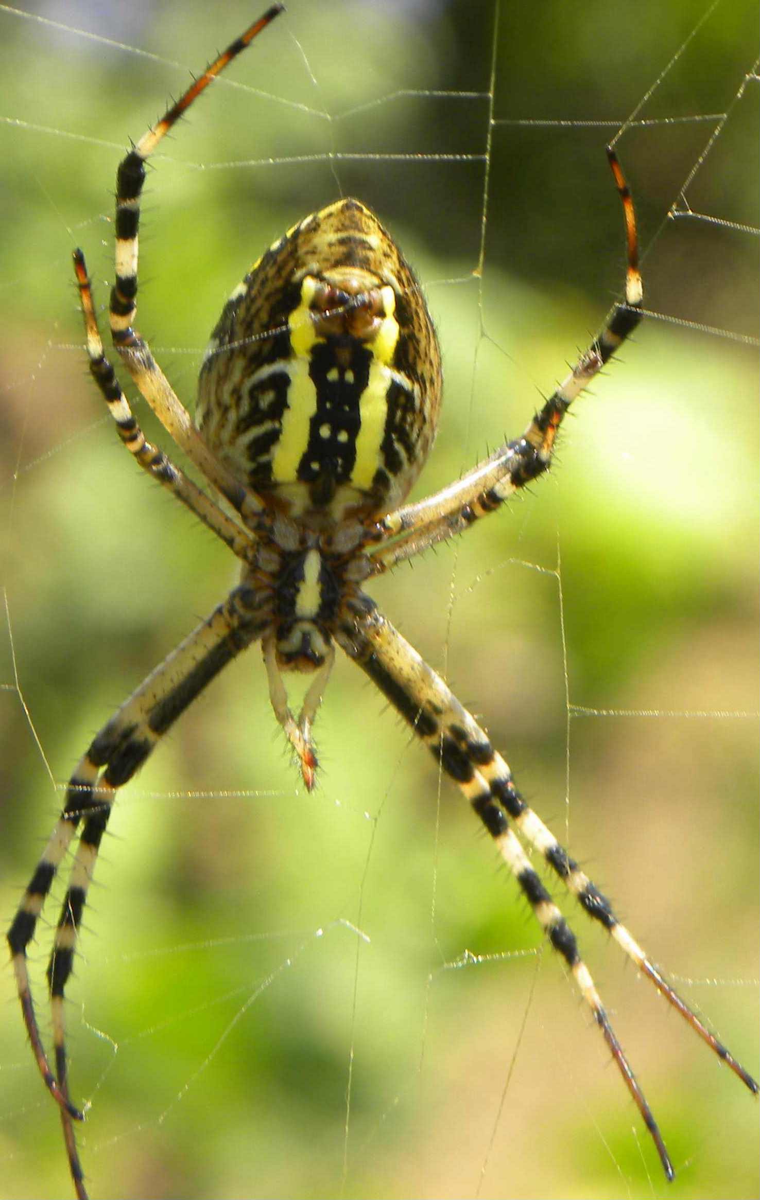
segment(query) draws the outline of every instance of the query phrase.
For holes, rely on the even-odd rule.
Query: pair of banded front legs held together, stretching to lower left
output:
[[[44,1084],[61,1106],[68,1160],[79,1196],[84,1196],[85,1192],[71,1121],[72,1118],[80,1121],[83,1112],[68,1099],[64,992],[71,974],[88,888],[114,793],[142,767],[161,736],[205,685],[261,635],[264,624],[265,622],[255,611],[251,589],[235,588],[227,600],[148,676],[103,726],[68,782],[62,812],[7,934],[24,1024]],[[53,1072],[42,1044],[32,1003],[26,947],[35,936],[37,919],[53,880],[80,826],[79,841],[47,970],[55,1050],[55,1072]]]

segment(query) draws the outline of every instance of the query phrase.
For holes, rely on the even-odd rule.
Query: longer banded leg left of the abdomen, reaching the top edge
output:
[[[221,71],[249,46],[257,34],[282,12],[275,4],[253,22],[240,37],[211,62],[175,104],[151,126],[130,150],[116,174],[116,253],[115,282],[110,293],[109,320],[113,343],[156,416],[174,442],[188,455],[203,474],[240,514],[246,524],[256,528],[263,512],[258,496],[245,487],[211,452],[192,424],[168,379],[155,361],[145,340],[132,328],[137,313],[137,262],[140,196],[145,180],[145,161],[154,154],[162,138]]]

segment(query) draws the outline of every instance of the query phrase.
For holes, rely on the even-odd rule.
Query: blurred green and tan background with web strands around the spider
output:
[[[70,282],[82,244],[106,302],[119,155],[251,18],[223,7],[0,5],[7,920],[92,732],[233,580],[119,446]],[[432,491],[523,427],[618,294],[604,145],[629,122],[648,319],[576,406],[551,478],[373,594],[753,1069],[756,14],[665,7],[291,0],[155,161],[140,328],[192,404],[261,247],[360,196],[441,332],[415,494]],[[92,1194],[664,1195],[516,888],[348,664],[318,734],[306,797],[253,653],[119,797],[68,1006]],[[755,1195],[749,1097],[565,911],[680,1194]],[[0,1193],[60,1195],[59,1122],[0,979]]]

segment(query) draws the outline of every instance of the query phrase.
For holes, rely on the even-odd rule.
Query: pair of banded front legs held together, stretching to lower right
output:
[[[639,970],[654,983],[658,991],[687,1019],[692,1028],[719,1058],[726,1062],[754,1093],[758,1092],[758,1084],[663,979],[641,947],[618,922],[609,900],[525,803],[514,785],[509,767],[493,750],[486,733],[459,703],[443,679],[423,661],[417,650],[377,612],[357,626],[346,624],[339,641],[349,658],[365,671],[429,746],[480,817],[499,854],[515,875],[551,944],[565,960],[654,1140],[665,1175],[672,1178],[672,1164],[662,1135],[612,1031],[588,968],[580,956],[575,935],[531,865],[521,842],[510,828],[509,818],[526,840],[541,852],[552,870],[579,899],[584,910],[612,934]]]

